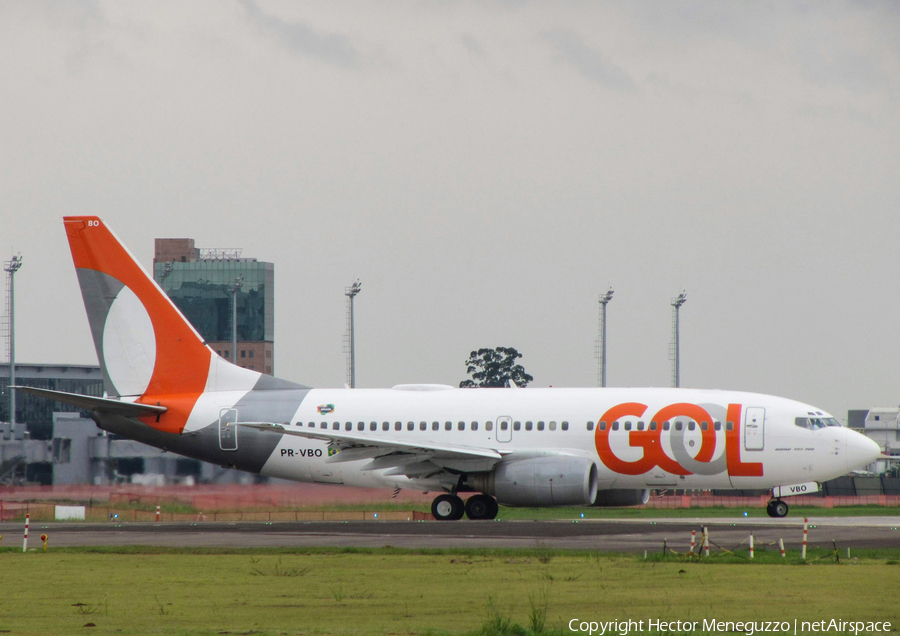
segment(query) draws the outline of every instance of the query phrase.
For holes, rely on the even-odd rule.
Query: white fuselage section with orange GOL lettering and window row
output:
[[[601,489],[771,488],[824,481],[871,461],[872,443],[864,436],[840,426],[804,428],[797,418],[834,421],[793,400],[734,391],[313,389],[285,429],[486,449],[510,459],[574,455],[597,464]],[[261,472],[359,486],[440,487],[427,478],[366,470],[371,456],[341,460],[329,457],[325,441],[285,435]],[[431,461],[460,472],[493,463]]]

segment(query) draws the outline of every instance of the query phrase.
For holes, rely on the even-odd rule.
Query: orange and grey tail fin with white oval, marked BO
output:
[[[146,423],[180,432],[204,391],[256,384],[259,373],[225,362],[203,343],[103,221],[64,221],[109,396],[166,406]]]

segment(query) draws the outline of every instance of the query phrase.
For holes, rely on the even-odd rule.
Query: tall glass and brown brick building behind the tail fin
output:
[[[242,258],[239,249],[199,249],[194,239],[156,239],[153,277],[216,353],[238,366],[274,374],[274,264]]]

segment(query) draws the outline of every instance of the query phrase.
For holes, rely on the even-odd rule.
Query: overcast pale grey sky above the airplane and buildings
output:
[[[61,217],[276,264],[276,373],[900,404],[893,2],[0,1],[22,362],[96,362]]]

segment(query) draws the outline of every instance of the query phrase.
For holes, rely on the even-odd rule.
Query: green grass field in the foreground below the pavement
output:
[[[858,551],[840,564],[757,557],[8,548],[0,633],[573,634],[573,618],[841,618],[900,628],[900,549]]]

